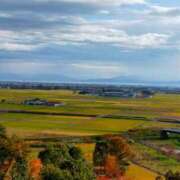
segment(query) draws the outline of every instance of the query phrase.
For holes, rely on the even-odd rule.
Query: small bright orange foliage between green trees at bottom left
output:
[[[29,163],[30,176],[33,177],[35,180],[38,180],[40,176],[41,168],[42,168],[42,162],[40,159],[32,160]]]

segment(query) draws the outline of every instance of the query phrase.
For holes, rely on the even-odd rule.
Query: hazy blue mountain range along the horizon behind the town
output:
[[[64,75],[31,75],[0,74],[0,81],[28,81],[28,82],[59,82],[59,83],[96,83],[96,84],[124,84],[124,85],[155,85],[155,86],[180,86],[180,81],[149,81],[137,76],[120,76],[114,78],[76,79]]]

